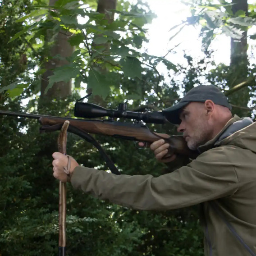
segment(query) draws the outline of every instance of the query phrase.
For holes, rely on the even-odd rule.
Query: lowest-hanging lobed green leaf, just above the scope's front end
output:
[[[103,98],[108,96],[110,92],[110,83],[105,75],[99,73],[94,68],[91,68],[89,71],[87,87],[92,89],[94,95],[100,95]]]

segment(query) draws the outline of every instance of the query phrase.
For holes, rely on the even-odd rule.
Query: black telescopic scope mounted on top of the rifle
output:
[[[127,104],[120,103],[118,110],[108,110],[93,103],[76,102],[75,116],[84,118],[97,118],[108,116],[111,118],[128,118],[143,121],[145,123],[165,123],[166,119],[162,112],[133,112],[127,111]]]

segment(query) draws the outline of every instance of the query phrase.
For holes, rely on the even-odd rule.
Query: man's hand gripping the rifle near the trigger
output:
[[[164,134],[161,134],[163,136]],[[166,138],[169,138],[169,135],[165,134]],[[153,142],[150,145],[150,148],[152,151],[154,151],[155,158],[161,163],[169,163],[171,161],[174,161],[176,159],[175,154],[169,154],[169,143],[165,143],[164,139],[160,139],[158,141]]]

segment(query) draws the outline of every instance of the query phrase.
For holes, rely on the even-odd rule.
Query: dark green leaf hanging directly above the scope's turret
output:
[[[124,76],[142,78],[142,63],[137,58],[127,57],[126,59],[121,59],[119,64],[123,67]]]

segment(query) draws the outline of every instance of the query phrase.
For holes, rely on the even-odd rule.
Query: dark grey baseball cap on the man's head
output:
[[[163,110],[163,114],[170,123],[180,124],[179,114],[181,110],[190,102],[205,102],[211,100],[217,105],[221,105],[231,110],[228,98],[218,87],[214,85],[199,85],[188,91],[178,104]]]

